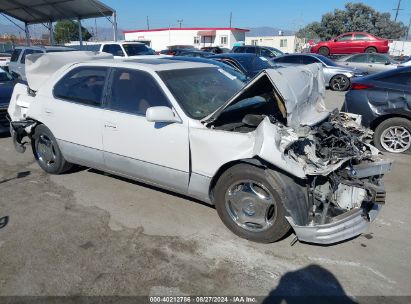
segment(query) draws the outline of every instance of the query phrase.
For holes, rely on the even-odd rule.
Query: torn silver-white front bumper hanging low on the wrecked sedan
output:
[[[323,225],[298,226],[291,217],[287,217],[287,220],[298,240],[307,243],[333,244],[366,232],[380,210],[381,206],[378,204],[373,204],[368,212],[362,208],[355,208],[334,218],[331,223]]]

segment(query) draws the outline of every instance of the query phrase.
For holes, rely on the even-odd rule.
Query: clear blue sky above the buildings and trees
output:
[[[272,26],[296,30],[312,21],[319,21],[321,15],[343,8],[349,1],[340,0],[101,0],[117,10],[120,28],[146,28],[149,16],[150,27],[177,26],[183,19],[183,26],[216,26],[229,24],[230,12],[233,13],[233,26],[257,27]],[[356,2],[356,1],[352,1]],[[394,8],[398,0],[366,0],[363,3],[376,10],[390,12],[394,18]],[[411,17],[411,0],[402,0],[398,20],[408,25]],[[91,21],[87,21],[89,23]],[[94,20],[92,21],[94,23]],[[107,26],[101,18],[98,26]]]

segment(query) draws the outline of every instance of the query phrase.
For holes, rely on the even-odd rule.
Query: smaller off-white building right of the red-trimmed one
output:
[[[295,35],[291,36],[260,36],[260,37],[246,37],[245,44],[270,46],[284,53],[295,53],[302,49],[304,41],[297,38]]]

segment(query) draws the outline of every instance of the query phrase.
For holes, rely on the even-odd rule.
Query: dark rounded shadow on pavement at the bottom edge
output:
[[[356,303],[348,297],[337,278],[319,265],[309,265],[284,274],[263,304]]]

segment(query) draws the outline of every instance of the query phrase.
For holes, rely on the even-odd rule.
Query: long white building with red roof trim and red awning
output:
[[[192,45],[197,48],[220,46],[232,48],[245,41],[247,29],[229,27],[160,28],[124,31],[126,41],[150,41],[156,51],[171,45]]]

